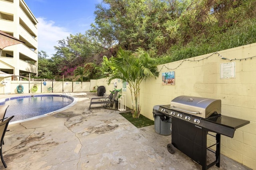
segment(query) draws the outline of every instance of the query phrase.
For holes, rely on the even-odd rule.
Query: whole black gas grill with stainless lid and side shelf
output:
[[[170,105],[161,105],[158,111],[172,118],[172,143],[167,145],[168,151],[172,154],[175,148],[182,151],[200,164],[202,170],[214,164],[220,167],[220,135],[234,137],[237,128],[250,123],[221,115],[221,100],[210,98],[178,96]],[[208,135],[216,138],[216,143],[209,147]],[[208,163],[207,151],[215,154],[213,162]]]

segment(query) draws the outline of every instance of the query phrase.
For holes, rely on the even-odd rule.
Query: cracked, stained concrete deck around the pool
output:
[[[0,95],[0,99],[18,95]],[[154,125],[136,128],[117,109],[92,105],[89,110],[96,93],[70,96],[77,102],[66,110],[8,126],[3,145],[6,170],[202,169],[179,150],[170,154],[166,146],[171,135],[159,135]],[[4,169],[1,162],[0,169]],[[210,168],[249,169],[224,155],[220,168]]]

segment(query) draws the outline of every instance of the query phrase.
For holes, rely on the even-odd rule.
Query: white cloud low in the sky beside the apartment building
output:
[[[70,32],[64,27],[58,27],[54,21],[47,21],[46,18],[38,20],[38,51],[45,51],[49,57],[56,53],[54,46],[58,45],[58,40],[66,39]]]

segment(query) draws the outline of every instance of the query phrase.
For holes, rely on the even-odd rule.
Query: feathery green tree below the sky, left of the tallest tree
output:
[[[73,76],[77,66],[84,66],[88,58],[102,51],[95,37],[88,32],[70,35],[66,39],[59,40],[58,46],[54,46],[56,53],[52,59],[58,63],[56,74]]]

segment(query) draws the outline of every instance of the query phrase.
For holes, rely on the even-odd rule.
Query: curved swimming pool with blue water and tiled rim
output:
[[[18,96],[6,98],[0,105],[9,105],[5,117],[14,115],[11,122],[21,122],[67,109],[74,105],[74,98],[57,94]]]

